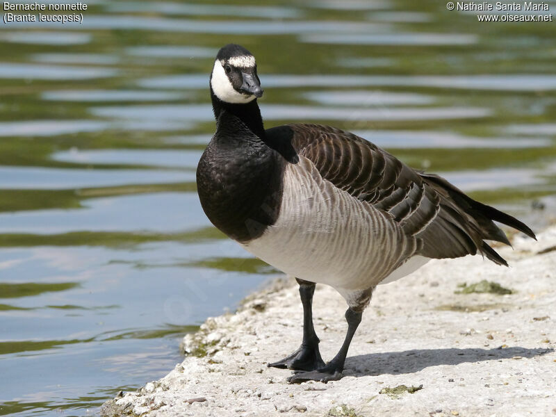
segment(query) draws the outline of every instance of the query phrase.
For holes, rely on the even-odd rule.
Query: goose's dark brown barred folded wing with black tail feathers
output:
[[[413,170],[359,136],[318,124],[287,127],[297,154],[313,162],[334,186],[389,213],[405,233],[422,242],[418,254],[456,258],[478,251],[507,265],[484,242],[509,244],[493,220],[534,238],[531,229],[512,216],[475,202],[441,177]]]

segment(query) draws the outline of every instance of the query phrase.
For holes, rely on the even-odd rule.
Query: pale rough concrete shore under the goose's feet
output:
[[[556,416],[556,227],[538,238],[497,247],[511,268],[481,256],[434,260],[379,286],[340,381],[288,384],[290,370],[266,366],[301,342],[297,285],[281,279],[238,312],[206,320],[184,338],[182,363],[101,414]],[[470,291],[482,280],[512,293]],[[346,305],[326,286],[313,305],[326,361],[343,341]]]

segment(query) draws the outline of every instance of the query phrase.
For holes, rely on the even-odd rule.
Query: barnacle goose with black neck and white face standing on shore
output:
[[[209,84],[216,132],[197,166],[197,192],[215,227],[299,284],[302,343],[268,363],[294,370],[288,382],[341,379],[378,284],[430,259],[482,254],[507,265],[485,242],[510,244],[494,221],[535,238],[511,215],[353,133],[319,124],[265,129],[256,61],[238,44],[218,51]],[[313,327],[316,284],[347,302],[345,340],[328,363]]]

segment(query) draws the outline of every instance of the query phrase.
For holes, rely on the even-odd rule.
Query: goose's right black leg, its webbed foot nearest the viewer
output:
[[[350,347],[353,335],[361,322],[361,316],[363,316],[363,311],[356,311],[351,307],[345,311],[345,320],[347,321],[347,334],[345,334],[345,339],[343,341],[342,347],[332,359],[322,368],[316,370],[310,370],[309,372],[295,373],[288,378],[288,382],[303,382],[303,381],[320,381],[329,382],[337,381],[342,377],[343,365],[345,363],[345,357],[347,356],[347,349]]]

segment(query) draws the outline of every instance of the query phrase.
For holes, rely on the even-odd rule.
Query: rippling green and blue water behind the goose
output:
[[[256,55],[267,126],[333,124],[537,227],[553,211],[554,22],[224,3],[95,0],[81,25],[0,26],[0,415],[95,414],[275,272],[195,193],[228,42]]]

